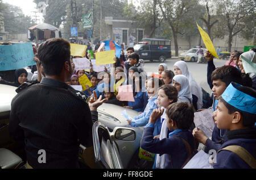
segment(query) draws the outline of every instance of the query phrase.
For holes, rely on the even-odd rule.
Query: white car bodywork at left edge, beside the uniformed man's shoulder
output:
[[[0,85],[0,112],[11,110],[11,101],[15,97],[17,87]]]

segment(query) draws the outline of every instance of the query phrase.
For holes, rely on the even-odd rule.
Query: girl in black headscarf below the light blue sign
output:
[[[15,87],[19,87],[24,82],[27,82],[27,71],[26,71],[26,69],[17,69],[17,70],[15,70],[14,82],[8,82],[8,81],[5,81],[4,79],[0,79],[1,84],[15,86]]]

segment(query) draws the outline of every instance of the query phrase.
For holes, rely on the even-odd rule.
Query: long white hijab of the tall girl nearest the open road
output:
[[[174,66],[177,66],[181,70],[182,74],[188,78],[189,85],[191,87],[191,93],[198,98],[197,109],[200,110],[200,108],[203,107],[203,92],[202,92],[201,86],[192,77],[191,72],[188,71],[188,66],[186,62],[177,61],[174,64]]]

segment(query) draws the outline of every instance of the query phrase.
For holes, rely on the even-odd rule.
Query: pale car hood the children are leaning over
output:
[[[97,108],[98,112],[104,112],[105,114],[109,114],[114,118],[118,119],[121,123],[127,123],[125,116],[122,115],[123,110],[126,110],[127,114],[129,114],[131,118],[139,115],[137,111],[130,110],[128,108],[124,108],[122,106],[117,106],[114,104],[103,103],[100,107]]]

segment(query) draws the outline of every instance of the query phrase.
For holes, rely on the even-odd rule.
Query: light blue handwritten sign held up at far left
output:
[[[0,71],[35,65],[31,43],[0,45]]]

